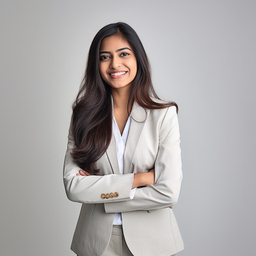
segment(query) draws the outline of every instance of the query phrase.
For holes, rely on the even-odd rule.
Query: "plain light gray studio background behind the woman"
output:
[[[75,255],[62,181],[71,103],[108,23],[179,106],[180,256],[255,254],[255,1],[1,1],[1,255]],[[92,255],[93,256],[93,255]],[[162,255],[159,255],[162,256]]]

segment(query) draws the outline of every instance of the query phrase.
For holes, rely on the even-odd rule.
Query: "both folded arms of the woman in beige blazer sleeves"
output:
[[[147,173],[91,175],[73,162],[70,150],[74,139],[69,133],[64,164],[64,183],[68,198],[79,203],[104,203],[106,213],[148,210],[170,207],[177,203],[182,180],[178,116],[175,107],[166,110],[159,130],[158,154],[154,169]],[[106,166],[109,168],[108,166]],[[87,177],[86,176],[91,176]],[[101,193],[118,191],[119,197],[100,198]],[[130,189],[138,188],[134,198]],[[97,193],[95,193],[97,189]],[[115,192],[115,191],[112,192]],[[102,191],[102,192],[101,192]],[[98,194],[99,193],[99,194]]]

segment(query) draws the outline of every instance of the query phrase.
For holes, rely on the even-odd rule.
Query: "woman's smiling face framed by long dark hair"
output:
[[[119,36],[105,37],[100,46],[100,75],[112,89],[131,87],[137,61],[131,45]]]

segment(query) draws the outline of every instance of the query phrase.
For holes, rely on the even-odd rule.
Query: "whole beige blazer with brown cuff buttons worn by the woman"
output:
[[[179,227],[169,208],[178,201],[182,180],[175,106],[145,111],[133,104],[123,175],[119,174],[114,134],[106,153],[95,163],[100,170],[97,175],[76,175],[80,168],[70,155],[73,146],[70,123],[63,181],[67,197],[82,203],[71,250],[79,256],[101,256],[116,212],[122,214],[125,241],[134,256],[170,256],[183,250]],[[154,185],[137,188],[130,199],[133,173],[153,167]]]

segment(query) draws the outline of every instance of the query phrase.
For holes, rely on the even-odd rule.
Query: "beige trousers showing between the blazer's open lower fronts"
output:
[[[102,256],[133,256],[125,242],[122,225],[113,225],[107,251]]]

